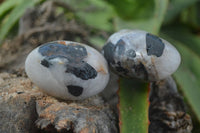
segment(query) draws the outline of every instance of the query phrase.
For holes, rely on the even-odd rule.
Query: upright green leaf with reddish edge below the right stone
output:
[[[120,79],[119,113],[121,133],[148,132],[148,85],[133,79]]]

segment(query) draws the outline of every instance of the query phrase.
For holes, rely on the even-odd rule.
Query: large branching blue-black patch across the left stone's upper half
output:
[[[62,45],[52,42],[42,45],[39,48],[39,53],[46,58],[46,60],[41,62],[45,67],[49,67],[48,60],[54,58],[66,58],[66,73],[72,73],[83,80],[92,79],[97,76],[97,71],[87,62],[83,61],[83,59],[87,57],[87,50],[82,45]]]

